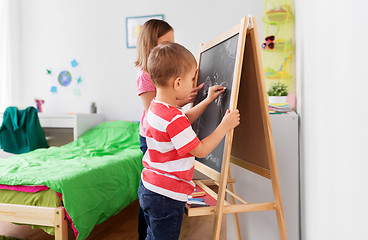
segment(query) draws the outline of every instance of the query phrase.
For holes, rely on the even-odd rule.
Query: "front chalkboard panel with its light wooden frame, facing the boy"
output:
[[[198,97],[194,101],[194,105],[207,96],[210,86],[223,85],[226,87],[225,93],[219,96],[193,123],[193,129],[201,140],[215,130],[221,122],[226,109],[236,108],[240,71],[244,55],[246,33],[244,28],[245,24],[238,24],[212,41],[200,46],[196,85],[204,83],[204,87],[198,91]],[[204,62],[208,63],[209,66],[203,66]],[[219,64],[221,66],[218,66]],[[208,121],[208,119],[211,119],[211,121]],[[206,123],[206,126],[203,126],[203,122]],[[229,146],[231,146],[232,132],[230,131],[206,158],[196,158],[196,169],[205,172],[207,176],[216,181],[220,180],[220,172],[223,171],[222,166],[226,165],[223,164],[222,159],[229,159],[230,157]]]

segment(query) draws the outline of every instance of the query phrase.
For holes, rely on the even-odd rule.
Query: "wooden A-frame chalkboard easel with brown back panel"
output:
[[[235,39],[234,36],[237,36],[236,49],[234,49],[235,43],[230,43],[231,39]],[[235,56],[235,59],[230,61],[226,54],[222,54],[224,51],[227,51],[228,55]],[[222,74],[227,68],[230,68],[229,72],[232,72],[232,74]],[[229,91],[226,90],[228,96],[222,99],[221,104],[217,107],[210,108],[211,106],[209,106],[210,113],[206,113],[206,110],[203,113],[203,122],[194,123],[193,129],[200,139],[206,137],[201,135],[201,131],[209,128],[209,131],[204,131],[204,135],[208,134],[214,127],[210,122],[215,121],[214,125],[218,124],[219,122],[216,121],[222,119],[224,109],[227,108],[239,109],[241,114],[240,125],[226,135],[223,145],[220,144],[221,151],[212,152],[208,159],[196,159],[195,161],[195,169],[209,177],[208,180],[197,180],[195,183],[217,200],[216,206],[191,208],[187,205],[186,214],[188,216],[215,215],[213,239],[217,240],[220,237],[223,214],[233,213],[238,239],[241,239],[237,213],[275,210],[280,239],[286,240],[286,227],[263,79],[260,44],[254,17],[243,18],[240,24],[212,41],[201,45],[196,85],[205,83],[205,86],[203,87],[204,91],[198,92],[197,97],[204,98],[205,91],[210,85],[215,83],[222,85],[224,81],[219,79],[225,79],[227,86],[231,83]],[[196,101],[199,102],[201,99]],[[216,157],[215,160],[220,159],[222,161],[221,171],[219,171],[218,164],[213,164],[216,162],[212,159],[214,156]],[[235,179],[232,179],[230,175],[230,161],[270,179],[274,202],[248,203],[236,195],[233,189]],[[211,185],[218,186],[217,193],[210,188]],[[230,202],[225,200],[226,194],[229,195]]]

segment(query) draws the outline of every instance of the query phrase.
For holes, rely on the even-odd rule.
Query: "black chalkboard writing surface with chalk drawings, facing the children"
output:
[[[211,86],[221,85],[226,87],[226,90],[192,124],[200,140],[216,129],[229,108],[238,39],[239,34],[233,35],[201,53],[197,86],[202,83],[204,86],[198,91],[193,105],[195,106],[207,97],[208,89]],[[209,155],[205,158],[196,158],[196,160],[221,172],[224,146],[225,138]]]

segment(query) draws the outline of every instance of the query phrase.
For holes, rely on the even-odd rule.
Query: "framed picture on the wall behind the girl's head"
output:
[[[139,32],[145,22],[150,19],[164,20],[163,14],[139,16],[139,17],[127,17],[126,18],[126,39],[127,48],[136,48]]]

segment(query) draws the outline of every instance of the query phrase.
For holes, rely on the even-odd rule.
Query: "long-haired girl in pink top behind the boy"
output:
[[[151,19],[147,21],[143,25],[138,36],[138,57],[137,61],[135,62],[135,66],[139,68],[137,76],[138,96],[140,96],[144,107],[139,131],[139,140],[141,143],[140,148],[143,154],[147,151],[145,138],[146,113],[152,99],[156,96],[156,87],[147,72],[147,60],[151,50],[155,46],[164,42],[174,42],[174,29],[163,20]],[[198,90],[201,87],[203,87],[203,85],[194,88],[191,94],[188,95],[185,99],[177,100],[177,105],[184,106],[187,103],[193,102]],[[147,224],[144,220],[144,214],[141,208],[139,208],[138,233],[140,240],[146,238]]]

